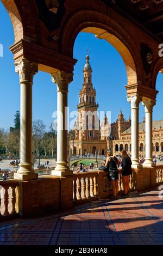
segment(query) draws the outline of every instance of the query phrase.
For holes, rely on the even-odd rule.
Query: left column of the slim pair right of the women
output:
[[[131,160],[133,168],[141,168],[139,163],[139,95],[129,96],[127,100],[131,104]]]

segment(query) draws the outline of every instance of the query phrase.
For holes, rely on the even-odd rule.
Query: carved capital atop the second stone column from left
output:
[[[66,73],[65,71],[58,71],[52,75],[52,82],[57,84],[57,91],[68,91],[68,84],[73,80],[73,74]]]

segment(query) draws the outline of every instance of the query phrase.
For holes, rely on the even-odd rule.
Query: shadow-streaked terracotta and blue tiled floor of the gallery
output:
[[[0,223],[0,245],[163,245],[158,191],[92,202],[65,214]]]

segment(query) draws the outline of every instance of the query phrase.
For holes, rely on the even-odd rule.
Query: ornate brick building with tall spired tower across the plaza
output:
[[[104,155],[107,149],[114,154],[126,150],[131,154],[131,119],[124,119],[122,109],[117,120],[110,124],[104,117],[100,125],[96,89],[92,84],[92,68],[87,50],[86,63],[83,70],[84,83],[79,92],[78,119],[75,123],[74,135],[70,133],[69,154],[84,155],[90,153]],[[145,157],[146,118],[139,124],[139,155]],[[163,120],[153,121],[153,155],[163,155]]]

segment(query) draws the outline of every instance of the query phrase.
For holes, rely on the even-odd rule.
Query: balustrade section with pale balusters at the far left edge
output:
[[[0,220],[15,216],[17,180],[0,181]]]

